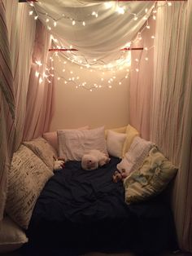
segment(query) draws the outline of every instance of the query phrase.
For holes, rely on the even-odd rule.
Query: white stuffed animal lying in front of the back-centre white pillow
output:
[[[98,166],[104,166],[110,161],[110,158],[97,149],[92,149],[81,159],[81,167],[84,170],[95,170]]]

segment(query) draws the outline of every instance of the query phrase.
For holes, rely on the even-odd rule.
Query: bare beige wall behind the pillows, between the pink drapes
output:
[[[55,58],[54,65],[55,113],[50,125],[51,131],[80,126],[113,128],[129,123],[129,77],[124,78],[124,71],[121,70],[118,74],[111,74],[111,72],[103,74],[103,71],[95,70],[91,72],[90,68],[81,70],[77,64],[69,62],[63,64],[63,61],[59,61],[58,58]],[[115,75],[115,82],[110,89],[108,79]],[[76,84],[64,83],[64,78],[77,76],[80,78],[76,80]],[[58,77],[61,78],[58,80]],[[104,82],[101,82],[101,77],[104,77]],[[93,91],[76,89],[76,85],[85,81],[88,86],[97,83],[103,87]],[[119,85],[120,81],[121,85]]]

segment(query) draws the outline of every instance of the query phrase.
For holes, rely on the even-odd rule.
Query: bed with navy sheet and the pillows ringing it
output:
[[[104,127],[60,130],[55,138],[55,148],[43,138],[24,142],[11,163],[6,210],[28,237],[22,254],[130,250],[154,256],[177,247],[167,200],[177,168],[154,143],[130,126],[109,130],[107,136]],[[53,172],[58,148],[66,162]],[[105,152],[111,160],[83,170],[87,148]],[[114,183],[117,169],[128,176]]]

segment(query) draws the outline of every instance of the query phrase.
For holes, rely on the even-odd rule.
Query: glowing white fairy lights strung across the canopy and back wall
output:
[[[34,16],[34,20],[37,20],[39,17],[38,17],[38,13],[37,13],[36,7],[35,7],[34,4],[33,4],[33,5],[32,5],[31,3],[29,3],[29,4],[30,4],[30,7],[33,7],[33,10],[29,11],[29,15]],[[118,3],[118,4],[119,4],[119,3]],[[164,6],[170,7],[170,6],[172,6],[172,5],[171,5],[169,2],[166,2],[166,3],[164,4]],[[161,6],[161,7],[164,7],[164,6]],[[156,19],[156,12],[157,12],[157,9],[158,9],[158,8],[159,8],[159,7],[157,7],[157,5],[154,5],[154,7],[152,8],[151,15],[150,15],[149,17],[152,16],[153,20]],[[125,13],[128,12],[128,9],[127,9],[127,10],[119,9],[119,10],[121,10],[121,11],[119,11],[120,15],[124,15]],[[124,10],[124,11],[123,11],[123,10]],[[147,12],[147,10],[146,10],[146,12]],[[72,23],[73,23],[72,25],[76,25],[76,23],[81,22],[81,25],[84,25],[84,26],[85,26],[85,20],[76,20],[76,19],[72,19],[72,17],[69,17],[68,15],[65,15],[65,14],[63,14],[63,15],[62,15],[61,17],[59,17],[59,19],[57,19],[57,20],[54,19],[53,17],[51,17],[51,16],[50,16],[49,14],[47,14],[46,12],[45,12],[45,14],[40,12],[40,14],[46,15],[46,23],[47,23],[47,24],[50,24],[50,20],[52,20],[52,25],[53,25],[53,26],[57,26],[57,21],[59,21],[59,20],[61,20],[61,19],[63,19],[63,18],[68,19],[68,20],[72,20]],[[138,19],[141,18],[141,16],[138,16],[137,14],[134,14],[134,13],[129,13],[129,14],[132,14],[132,15],[133,15],[133,19],[135,19],[136,17],[137,17]],[[95,11],[95,12],[92,12],[90,15],[96,17],[96,16],[98,16],[98,11],[97,11],[97,12],[96,12],[96,11]],[[148,17],[148,18],[149,18],[149,17]],[[140,30],[139,33],[137,33],[137,37],[136,37],[132,42],[129,42],[129,46],[131,46],[132,44],[134,44],[134,43],[139,42],[139,41],[142,40],[142,33],[143,33],[143,31],[144,31],[145,29],[151,29],[151,28],[150,28],[150,25],[148,24],[148,18],[147,18],[147,20],[146,20],[146,25],[143,26],[142,30]],[[145,20],[145,16],[144,16],[143,19]],[[51,30],[51,27],[50,27],[49,25],[47,25],[47,29]],[[152,40],[152,39],[155,39],[155,36],[151,36],[151,40]],[[53,38],[53,41],[55,41],[55,40],[57,40],[57,39],[54,39],[54,38]],[[61,47],[61,46],[57,46],[57,47],[59,48],[59,47]],[[147,47],[144,47],[144,49],[143,49],[143,54],[144,54],[145,56],[144,56],[144,55],[143,55],[143,56],[144,56],[144,59],[145,59],[146,61],[149,60],[148,52],[149,52],[153,47],[155,47],[155,46],[150,46],[150,47],[148,47],[148,48],[147,48]],[[67,79],[65,76],[59,75],[59,73],[54,70],[54,67],[53,67],[54,57],[59,57],[58,52],[55,52],[52,56],[50,56],[51,68],[47,68],[47,67],[46,67],[46,71],[45,71],[45,72],[40,73],[40,72],[39,72],[39,67],[41,66],[41,62],[37,62],[37,63],[36,63],[38,68],[37,68],[37,72],[35,73],[35,75],[36,75],[36,77],[39,77],[39,82],[42,82],[43,79],[46,79],[48,82],[50,82],[50,77],[55,77],[55,79],[57,79],[58,81],[59,81],[59,80],[63,80],[65,84],[72,83],[74,86],[76,86],[76,89],[78,89],[78,88],[83,88],[83,89],[85,89],[85,90],[93,91],[93,90],[98,89],[98,88],[103,88],[103,86],[104,86],[103,83],[105,83],[105,86],[106,86],[106,84],[108,84],[108,88],[110,88],[110,89],[111,89],[111,87],[112,87],[112,85],[113,85],[114,82],[115,82],[116,85],[121,85],[122,82],[124,81],[124,79],[127,79],[127,78],[129,77],[129,73],[130,73],[130,72],[133,72],[133,68],[127,69],[127,70],[129,70],[129,72],[126,72],[126,73],[124,74],[124,76],[123,76],[122,78],[120,78],[120,79],[117,81],[116,75],[114,75],[114,71],[112,71],[111,64],[106,64],[103,60],[97,60],[97,59],[94,59],[94,60],[87,60],[87,59],[85,58],[85,55],[82,55],[82,54],[76,55],[76,54],[74,54],[72,51],[69,51],[68,54],[71,54],[71,55],[72,55],[72,58],[74,58],[74,59],[76,59],[76,58],[78,58],[78,57],[84,58],[85,63],[82,63],[81,60],[78,60],[78,61],[76,62],[76,64],[84,65],[84,67],[81,66],[80,69],[87,68],[87,70],[88,70],[88,69],[90,68],[90,72],[93,72],[93,69],[91,69],[92,67],[94,67],[94,66],[96,66],[96,65],[98,65],[98,64],[103,64],[103,66],[105,66],[106,68],[108,67],[108,68],[107,68],[107,71],[111,71],[111,73],[113,73],[113,75],[111,75],[111,78],[108,78],[108,79],[106,79],[106,78],[104,78],[104,77],[101,77],[101,84],[99,84],[99,85],[98,85],[96,82],[93,82],[93,85],[87,85],[86,82],[79,82],[79,80],[81,80],[79,76],[77,76],[78,78],[75,77],[75,76],[73,76],[73,77],[68,77],[68,79]],[[136,67],[135,70],[134,70],[135,72],[139,72],[139,65],[140,65],[141,56],[142,56],[142,55],[140,55],[140,59],[139,59],[139,60],[138,60],[138,59],[135,60],[136,63],[137,63],[137,67]],[[64,55],[64,57],[67,58],[67,59],[68,59],[69,61],[71,61],[72,63],[75,62],[75,60],[73,60],[73,59],[71,60],[71,59],[68,57],[68,55]],[[120,66],[120,64],[122,64],[122,62],[124,61],[124,55],[120,55],[120,57],[116,59],[116,62],[118,62],[118,61],[120,62],[120,63],[119,63],[119,66]],[[65,62],[65,64],[67,64],[67,62]],[[66,69],[67,69],[67,68],[63,68],[63,70],[66,70]],[[55,75],[52,73],[53,70],[55,71]],[[98,70],[101,70],[101,69],[98,68]],[[116,68],[116,72],[118,72],[118,68]],[[115,74],[116,74],[116,72],[115,72]],[[77,82],[77,81],[78,81],[78,82]]]

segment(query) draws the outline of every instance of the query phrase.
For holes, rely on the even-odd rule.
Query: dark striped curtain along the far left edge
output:
[[[15,98],[5,5],[0,0],[0,220],[7,194],[7,173],[15,148]]]

